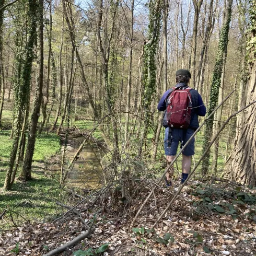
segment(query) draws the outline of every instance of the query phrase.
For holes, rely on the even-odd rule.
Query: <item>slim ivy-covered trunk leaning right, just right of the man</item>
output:
[[[222,71],[223,71],[223,65],[224,65],[224,54],[228,45],[228,32],[229,32],[229,24],[231,20],[231,13],[232,13],[232,0],[228,0],[226,19],[223,24],[222,30],[220,31],[218,50],[217,50],[217,55],[215,59],[214,71],[213,71],[210,100],[207,108],[206,117],[208,117],[208,115],[210,115],[213,112],[218,102],[219,87],[222,79]],[[213,133],[213,119],[210,119],[207,121],[205,125],[203,152],[206,150],[206,148],[211,142],[212,133]],[[207,174],[208,167],[209,167],[209,160],[210,160],[210,151],[208,151],[208,153],[205,155],[202,161],[203,175]]]

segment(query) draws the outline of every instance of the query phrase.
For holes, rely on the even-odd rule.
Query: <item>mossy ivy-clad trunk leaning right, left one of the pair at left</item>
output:
[[[22,3],[21,3],[22,5]],[[24,5],[22,5],[24,7]],[[17,38],[17,74],[16,74],[16,85],[15,85],[15,108],[14,108],[14,123],[13,123],[13,146],[11,147],[11,153],[9,158],[9,166],[6,172],[4,189],[11,189],[11,174],[13,173],[13,168],[15,164],[15,159],[17,155],[19,137],[20,137],[20,127],[22,123],[22,113],[24,112],[24,107],[27,102],[27,97],[30,91],[30,79],[31,79],[31,69],[33,61],[33,48],[36,42],[36,27],[37,24],[37,1],[29,0],[27,7],[27,33],[29,34],[28,41],[26,42],[25,49],[22,52],[22,44]],[[19,16],[20,18],[20,16]],[[22,53],[25,54],[24,59],[21,57]]]

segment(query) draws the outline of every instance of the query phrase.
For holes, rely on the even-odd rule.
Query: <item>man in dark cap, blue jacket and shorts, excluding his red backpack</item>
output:
[[[206,108],[204,106],[204,102],[202,100],[201,95],[195,89],[189,89],[188,86],[189,81],[191,79],[191,74],[187,69],[179,69],[176,72],[176,88],[178,89],[186,89],[188,88],[191,101],[192,101],[192,108],[191,108],[191,118],[189,122],[189,126],[187,129],[177,129],[177,128],[170,128],[168,126],[167,114],[165,112],[163,126],[166,128],[165,130],[165,155],[168,165],[170,162],[175,158],[179,142],[182,143],[181,146],[185,145],[194,131],[199,127],[199,120],[198,116],[204,117],[206,114]],[[173,89],[167,90],[164,95],[162,96],[161,100],[158,103],[157,109],[159,111],[165,111],[168,106],[169,99],[171,97],[171,92]],[[182,152],[182,179],[181,184],[189,176],[190,166],[191,166],[191,156],[194,155],[195,149],[195,139],[192,138],[191,142],[185,147]],[[171,167],[169,172],[166,173],[166,185],[169,187],[171,185],[173,175],[173,168]]]

